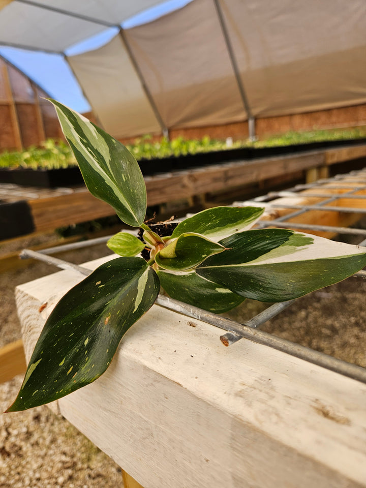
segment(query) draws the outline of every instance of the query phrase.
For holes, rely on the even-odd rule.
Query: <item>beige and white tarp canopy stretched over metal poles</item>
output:
[[[193,0],[120,27],[159,3],[14,0],[0,45],[64,53],[118,26],[104,46],[67,56],[115,137],[366,102],[364,0]]]

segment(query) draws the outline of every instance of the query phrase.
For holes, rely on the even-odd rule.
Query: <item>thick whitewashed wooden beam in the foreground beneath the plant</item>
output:
[[[17,287],[27,357],[81,279]],[[366,385],[249,340],[224,348],[221,330],[193,322],[153,306],[61,413],[149,488],[366,486]]]

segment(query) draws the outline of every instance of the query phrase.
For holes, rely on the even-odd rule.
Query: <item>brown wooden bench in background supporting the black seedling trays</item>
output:
[[[366,145],[309,151],[297,155],[215,164],[186,171],[146,176],[147,204],[161,205],[227,191],[271,178],[305,172],[307,180],[325,177],[329,166],[366,158]],[[0,184],[0,240],[52,231],[57,227],[113,215],[113,209],[85,187],[39,189]],[[9,205],[13,207],[9,207]],[[12,218],[18,209],[17,219]],[[8,215],[9,214],[9,215]],[[12,230],[10,231],[10,227]],[[7,234],[5,234],[7,232]],[[12,233],[12,235],[9,234]],[[3,233],[3,234],[2,234]]]

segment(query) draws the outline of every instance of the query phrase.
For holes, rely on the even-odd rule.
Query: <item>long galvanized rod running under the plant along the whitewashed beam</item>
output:
[[[82,273],[84,276],[87,276],[92,272],[92,270],[84,268],[83,266],[68,263],[62,259],[56,259],[31,250],[24,250],[21,255],[24,258],[31,257],[34,259],[39,259],[40,261],[53,264],[62,269],[73,269]],[[206,310],[193,307],[192,305],[174,300],[173,298],[164,295],[159,295],[156,303],[161,307],[187,315],[188,317],[202,320],[221,329],[240,335],[242,338],[250,339],[253,342],[272,347],[273,349],[285,352],[286,354],[290,354],[313,364],[317,364],[328,370],[348,376],[349,378],[361,381],[362,383],[366,383],[366,369],[356,366],[355,364],[350,364],[340,359],[335,359],[332,356],[328,356],[285,339],[278,338],[275,335],[268,334],[262,330],[257,330],[256,328],[239,324],[231,319],[212,314]]]

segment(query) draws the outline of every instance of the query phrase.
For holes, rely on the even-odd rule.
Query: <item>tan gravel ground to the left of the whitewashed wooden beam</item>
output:
[[[12,241],[0,246],[9,253],[42,242],[54,241],[53,234]],[[105,245],[58,255],[82,263],[109,254]],[[16,313],[16,285],[49,275],[55,268],[34,262],[25,269],[0,275],[0,347],[20,339]],[[14,401],[22,377],[0,384],[0,411]],[[123,486],[120,468],[73,425],[47,407],[0,414],[0,487],[23,488],[115,488]]]

